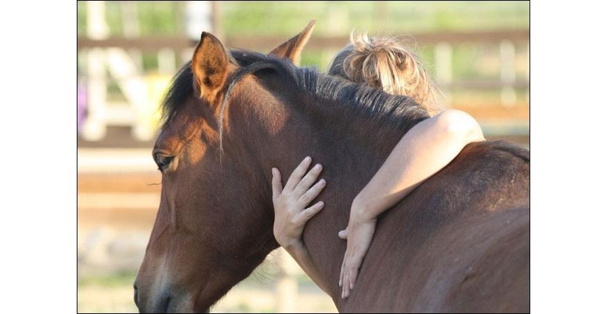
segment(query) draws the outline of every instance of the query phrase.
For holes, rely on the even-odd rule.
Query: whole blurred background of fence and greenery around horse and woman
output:
[[[78,1],[78,311],[135,312],[133,281],[160,200],[158,103],[202,31],[269,52],[317,20],[301,66],[327,69],[352,29],[412,38],[488,139],[529,147],[527,1]],[[335,312],[278,249],[213,312]]]

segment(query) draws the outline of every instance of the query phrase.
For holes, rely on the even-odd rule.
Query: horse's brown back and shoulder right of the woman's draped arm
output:
[[[378,218],[344,311],[529,311],[529,152],[470,144]]]

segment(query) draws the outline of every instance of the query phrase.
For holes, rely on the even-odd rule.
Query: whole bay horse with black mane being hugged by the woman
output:
[[[340,312],[530,311],[530,154],[467,145],[377,220],[350,297],[338,277],[350,204],[428,112],[405,96],[294,66],[310,29],[271,54],[202,33],[174,77],[153,158],[162,195],[135,281],[144,312],[208,312],[278,244],[271,167],[324,167],[303,240]]]

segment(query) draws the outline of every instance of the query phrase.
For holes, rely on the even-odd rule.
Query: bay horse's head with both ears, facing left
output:
[[[271,54],[297,63],[313,26]],[[206,312],[278,247],[271,228],[271,166],[243,163],[260,152],[232,139],[261,139],[284,119],[267,111],[264,105],[274,96],[250,77],[240,77],[230,101],[223,101],[240,68],[216,37],[202,33],[165,97],[165,122],[152,152],[162,172],[162,195],[135,281],[142,312]],[[243,115],[230,117],[237,127],[223,124],[225,106],[257,107],[258,114],[273,116],[264,121],[273,122]]]

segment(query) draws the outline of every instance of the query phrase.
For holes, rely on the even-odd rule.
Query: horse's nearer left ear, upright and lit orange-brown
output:
[[[194,84],[200,97],[215,94],[220,87],[223,87],[228,62],[227,53],[221,42],[215,36],[203,31],[191,64],[195,77]]]

